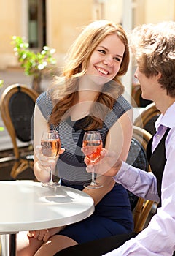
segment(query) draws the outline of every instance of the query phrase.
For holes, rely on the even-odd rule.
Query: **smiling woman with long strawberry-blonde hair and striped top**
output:
[[[120,79],[128,70],[128,39],[122,26],[108,20],[90,23],[68,53],[63,74],[36,101],[34,146],[41,132],[57,129],[62,151],[56,175],[63,186],[83,190],[93,197],[94,213],[66,227],[36,230],[18,236],[19,255],[54,255],[61,249],[133,230],[127,190],[112,177],[97,176],[100,189],[84,188],[91,173],[86,172],[82,138],[87,130],[98,130],[103,145],[125,161],[131,145],[132,108],[122,96]],[[37,153],[37,152],[36,152]],[[48,159],[35,154],[34,173],[39,181],[49,180]],[[45,170],[44,170],[45,169]],[[22,238],[21,238],[22,236]]]

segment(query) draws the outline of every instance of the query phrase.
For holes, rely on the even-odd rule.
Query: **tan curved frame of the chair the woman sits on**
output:
[[[150,138],[152,138],[152,135],[141,127],[133,126],[133,138],[138,140],[146,151],[147,143],[149,142]],[[151,171],[150,166],[148,171]],[[143,198],[139,197],[136,207],[133,209],[134,232],[138,233],[144,229],[144,225],[147,221],[149,212],[152,209],[153,203],[154,201],[152,200],[144,200]]]

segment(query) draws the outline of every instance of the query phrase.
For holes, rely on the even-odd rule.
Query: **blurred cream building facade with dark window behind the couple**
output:
[[[140,23],[175,19],[174,0],[0,0],[0,10],[0,69],[18,66],[10,43],[13,35],[25,37],[34,50],[45,44],[55,48],[59,66],[79,31],[93,20],[129,24],[129,30]]]

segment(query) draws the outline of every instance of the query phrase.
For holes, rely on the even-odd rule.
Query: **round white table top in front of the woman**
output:
[[[79,222],[93,214],[93,199],[69,187],[34,181],[0,181],[0,233],[18,233]]]

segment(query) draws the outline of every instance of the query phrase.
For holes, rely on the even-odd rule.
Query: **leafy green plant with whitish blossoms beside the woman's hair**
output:
[[[15,56],[18,56],[20,67],[24,68],[26,75],[33,75],[33,89],[41,92],[40,82],[44,71],[51,71],[55,67],[56,59],[53,57],[55,49],[44,46],[41,52],[34,53],[28,50],[29,44],[23,37],[12,37]]]

